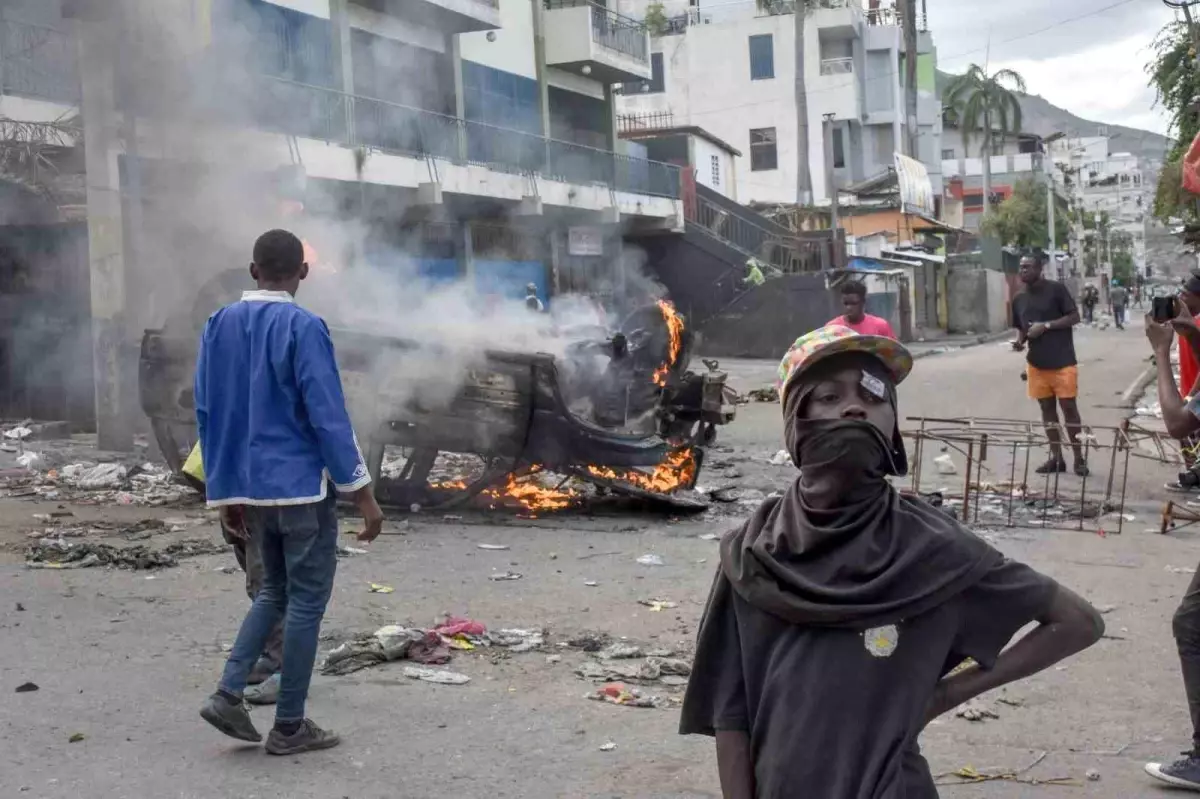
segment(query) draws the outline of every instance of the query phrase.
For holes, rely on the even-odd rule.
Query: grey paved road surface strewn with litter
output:
[[[1140,331],[1081,331],[1082,407],[1093,423],[1115,423],[1118,395],[1144,365]],[[743,379],[769,378],[772,365],[737,364]],[[902,411],[923,415],[1026,417],[1033,405],[1018,378],[1020,356],[980,346],[923,359],[901,392]],[[764,378],[764,379],[767,379]],[[722,433],[743,485],[782,486],[780,419],[769,404],[749,405]],[[1151,499],[1169,470],[1138,464],[1130,485]],[[703,480],[716,480],[716,473]],[[30,515],[47,506],[0,500],[0,537],[18,539]],[[179,511],[76,507],[126,519]],[[344,635],[391,621],[428,624],[442,613],[469,614],[498,626],[545,626],[552,641],[580,630],[655,645],[686,648],[695,635],[721,531],[739,512],[692,521],[578,515],[534,524],[488,519],[389,523],[368,555],[341,561],[325,630]],[[1200,547],[1190,530],[1144,531],[1139,515],[1124,535],[1057,530],[995,530],[996,543],[1081,591],[1106,615],[1114,636],[1055,669],[1012,686],[1015,704],[1000,719],[935,723],[923,744],[937,773],[971,765],[1000,773],[1045,758],[1028,776],[1082,779],[1081,787],[1012,782],[946,787],[950,798],[1156,797],[1140,774],[1147,757],[1184,747],[1188,729],[1170,614]],[[215,535],[211,525],[206,531]],[[479,543],[505,543],[491,552]],[[665,566],[641,566],[644,553]],[[583,698],[572,675],[574,650],[488,657],[461,654],[454,668],[467,686],[407,681],[396,667],[343,678],[318,677],[311,713],[346,734],[330,752],[281,762],[232,745],[197,717],[245,609],[241,576],[212,555],[144,573],[26,571],[0,561],[0,794],[97,799],[276,797],[718,797],[713,747],[674,734],[673,709],[641,710]],[[497,570],[521,572],[492,582]],[[367,593],[371,582],[395,587]],[[588,587],[595,582],[595,587]],[[679,608],[652,612],[638,600],[664,597]],[[20,602],[25,608],[17,611]],[[328,645],[328,644],[326,644]],[[14,693],[32,680],[41,690]],[[670,696],[666,689],[655,692]],[[256,711],[265,727],[268,711]],[[71,744],[74,733],[84,740]],[[600,751],[612,741],[614,751]],[[798,741],[803,746],[803,741]],[[28,791],[18,792],[18,788]]]

